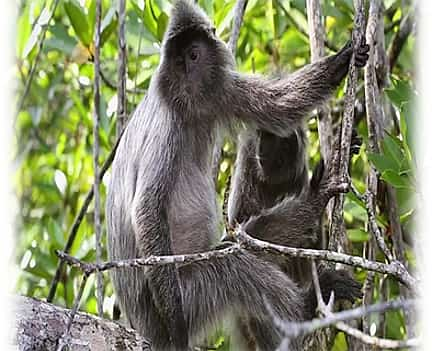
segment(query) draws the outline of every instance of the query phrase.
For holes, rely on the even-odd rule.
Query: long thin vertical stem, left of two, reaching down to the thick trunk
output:
[[[95,198],[94,204],[94,228],[96,240],[96,262],[102,260],[102,233],[100,219],[100,180],[99,180],[99,122],[100,122],[100,39],[101,39],[101,17],[102,17],[102,0],[96,1],[96,23],[95,23],[95,49],[94,49],[94,113],[93,113],[93,168],[95,180],[93,192]],[[101,273],[96,275],[96,298],[98,315],[103,316],[103,276]]]

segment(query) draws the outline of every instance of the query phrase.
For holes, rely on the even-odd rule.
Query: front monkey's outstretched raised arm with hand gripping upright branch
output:
[[[369,46],[362,42],[357,66],[366,64]],[[278,136],[288,136],[305,115],[324,103],[348,72],[351,43],[338,53],[309,64],[285,78],[268,80],[230,72],[225,102],[246,122]]]

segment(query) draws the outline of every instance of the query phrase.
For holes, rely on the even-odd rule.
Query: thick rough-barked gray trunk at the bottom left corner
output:
[[[20,351],[56,350],[70,310],[29,297],[15,300],[13,344]],[[132,329],[86,313],[75,315],[70,351],[151,351],[150,343]]]

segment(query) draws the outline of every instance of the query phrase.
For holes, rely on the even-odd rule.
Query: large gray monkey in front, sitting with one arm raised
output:
[[[346,75],[352,52],[348,44],[280,80],[243,75],[204,12],[192,1],[177,1],[160,64],[113,162],[110,259],[209,250],[218,232],[211,166],[219,131],[247,123],[290,135]],[[355,282],[338,272],[320,280],[330,278],[336,299],[358,295]],[[284,320],[312,318],[316,306],[312,288],[300,289],[249,252],[116,270],[112,280],[122,312],[156,351],[190,350],[229,314],[250,318],[256,347],[274,350],[281,334],[266,302]],[[300,341],[292,347],[299,350]]]

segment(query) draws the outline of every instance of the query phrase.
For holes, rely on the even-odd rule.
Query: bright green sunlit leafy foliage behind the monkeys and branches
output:
[[[214,20],[217,33],[228,41],[235,1],[201,0],[201,6]],[[407,1],[386,0],[386,43],[398,30],[398,20],[407,10]],[[15,120],[15,191],[19,199],[17,218],[16,264],[19,277],[18,293],[46,298],[49,284],[57,266],[55,249],[62,249],[67,232],[82,206],[93,182],[92,112],[93,112],[93,36],[95,27],[94,0],[59,1],[50,20],[55,1],[21,1],[17,23],[16,75],[19,81],[17,101],[24,94],[30,69],[38,52],[39,37],[47,29],[35,76]],[[349,0],[322,1],[326,16],[326,34],[334,47],[348,40],[353,25],[353,4]],[[128,112],[142,99],[150,77],[159,61],[159,47],[165,31],[170,2],[164,0],[127,1],[126,41],[127,106]],[[116,79],[117,79],[117,2],[103,1],[101,70],[101,157],[106,159],[115,142]],[[396,25],[393,25],[393,24]],[[47,27],[47,28],[46,28]],[[249,1],[237,46],[237,64],[241,71],[274,73],[293,71],[309,62],[309,40],[304,0]],[[413,227],[416,179],[412,148],[413,50],[414,36],[405,44],[393,70],[386,96],[400,121],[400,133],[389,127],[381,154],[368,154],[365,145],[354,156],[351,175],[355,185],[365,190],[364,179],[374,164],[381,179],[396,188],[400,220],[406,240],[405,255],[410,267],[415,265],[410,243],[416,235]],[[330,52],[328,52],[330,53]],[[343,85],[331,101],[332,108],[342,106]],[[316,120],[309,122],[309,156],[311,165],[319,159]],[[367,140],[365,119],[358,124],[358,133]],[[224,159],[218,178],[222,193],[235,158],[234,144],[224,147]],[[107,179],[101,186],[102,204],[105,200]],[[362,255],[369,234],[366,228],[364,205],[348,194],[345,203],[348,237],[354,254]],[[103,215],[102,215],[103,216]],[[379,213],[379,225],[388,237],[391,228],[385,211]],[[104,218],[102,217],[102,223]],[[105,230],[105,229],[104,229]],[[105,247],[105,245],[104,245]],[[71,254],[77,258],[95,260],[93,208],[84,217],[74,241]],[[106,252],[104,251],[104,258]],[[379,260],[383,257],[378,256]],[[356,270],[359,280],[365,272]],[[71,307],[80,281],[80,273],[67,268],[62,275],[54,303]],[[84,292],[81,309],[96,314],[93,277]],[[374,299],[392,298],[400,294],[398,284],[391,278],[376,276]],[[104,313],[112,317],[113,290],[105,276]],[[384,288],[383,288],[384,286]],[[380,290],[384,289],[384,290]],[[400,312],[389,312],[377,325],[384,328],[386,337],[403,338],[405,322]],[[384,327],[379,325],[384,323]],[[223,334],[217,338],[220,349],[229,349]],[[336,338],[334,350],[346,350],[343,335]]]

